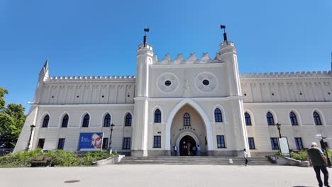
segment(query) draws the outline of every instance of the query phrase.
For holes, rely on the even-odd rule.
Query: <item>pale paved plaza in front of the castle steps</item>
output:
[[[332,169],[328,169],[332,172]],[[331,183],[331,180],[330,180]],[[107,165],[0,169],[0,186],[318,186],[297,166]]]

